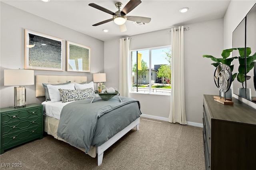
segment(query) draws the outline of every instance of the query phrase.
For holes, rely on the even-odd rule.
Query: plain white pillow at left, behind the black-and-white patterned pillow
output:
[[[47,85],[47,88],[52,102],[61,101],[59,89],[75,90],[74,83],[66,85]]]

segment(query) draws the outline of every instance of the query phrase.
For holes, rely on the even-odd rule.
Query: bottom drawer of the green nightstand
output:
[[[2,147],[21,143],[22,140],[27,140],[28,138],[33,138],[34,136],[38,136],[42,134],[42,125],[31,127],[26,130],[21,130],[18,132],[6,134],[2,136]]]

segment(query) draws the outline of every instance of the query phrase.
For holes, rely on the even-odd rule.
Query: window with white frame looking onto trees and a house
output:
[[[170,94],[171,53],[170,46],[130,51],[131,91]]]

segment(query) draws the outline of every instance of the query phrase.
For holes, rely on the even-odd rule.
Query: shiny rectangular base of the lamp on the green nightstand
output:
[[[14,87],[14,108],[26,107],[26,87]]]

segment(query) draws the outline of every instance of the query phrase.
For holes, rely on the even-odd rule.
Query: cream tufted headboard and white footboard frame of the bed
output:
[[[87,81],[86,76],[56,76],[56,75],[36,75],[36,97],[45,96],[44,87],[42,83],[48,84],[60,84],[71,81],[71,83],[81,83]],[[104,144],[96,147],[98,166],[102,164],[104,151],[107,150],[112,144],[118,141],[122,136],[129,132],[132,128],[136,127],[139,130],[140,118],[133,121],[126,128],[115,134],[112,138],[106,141]]]

